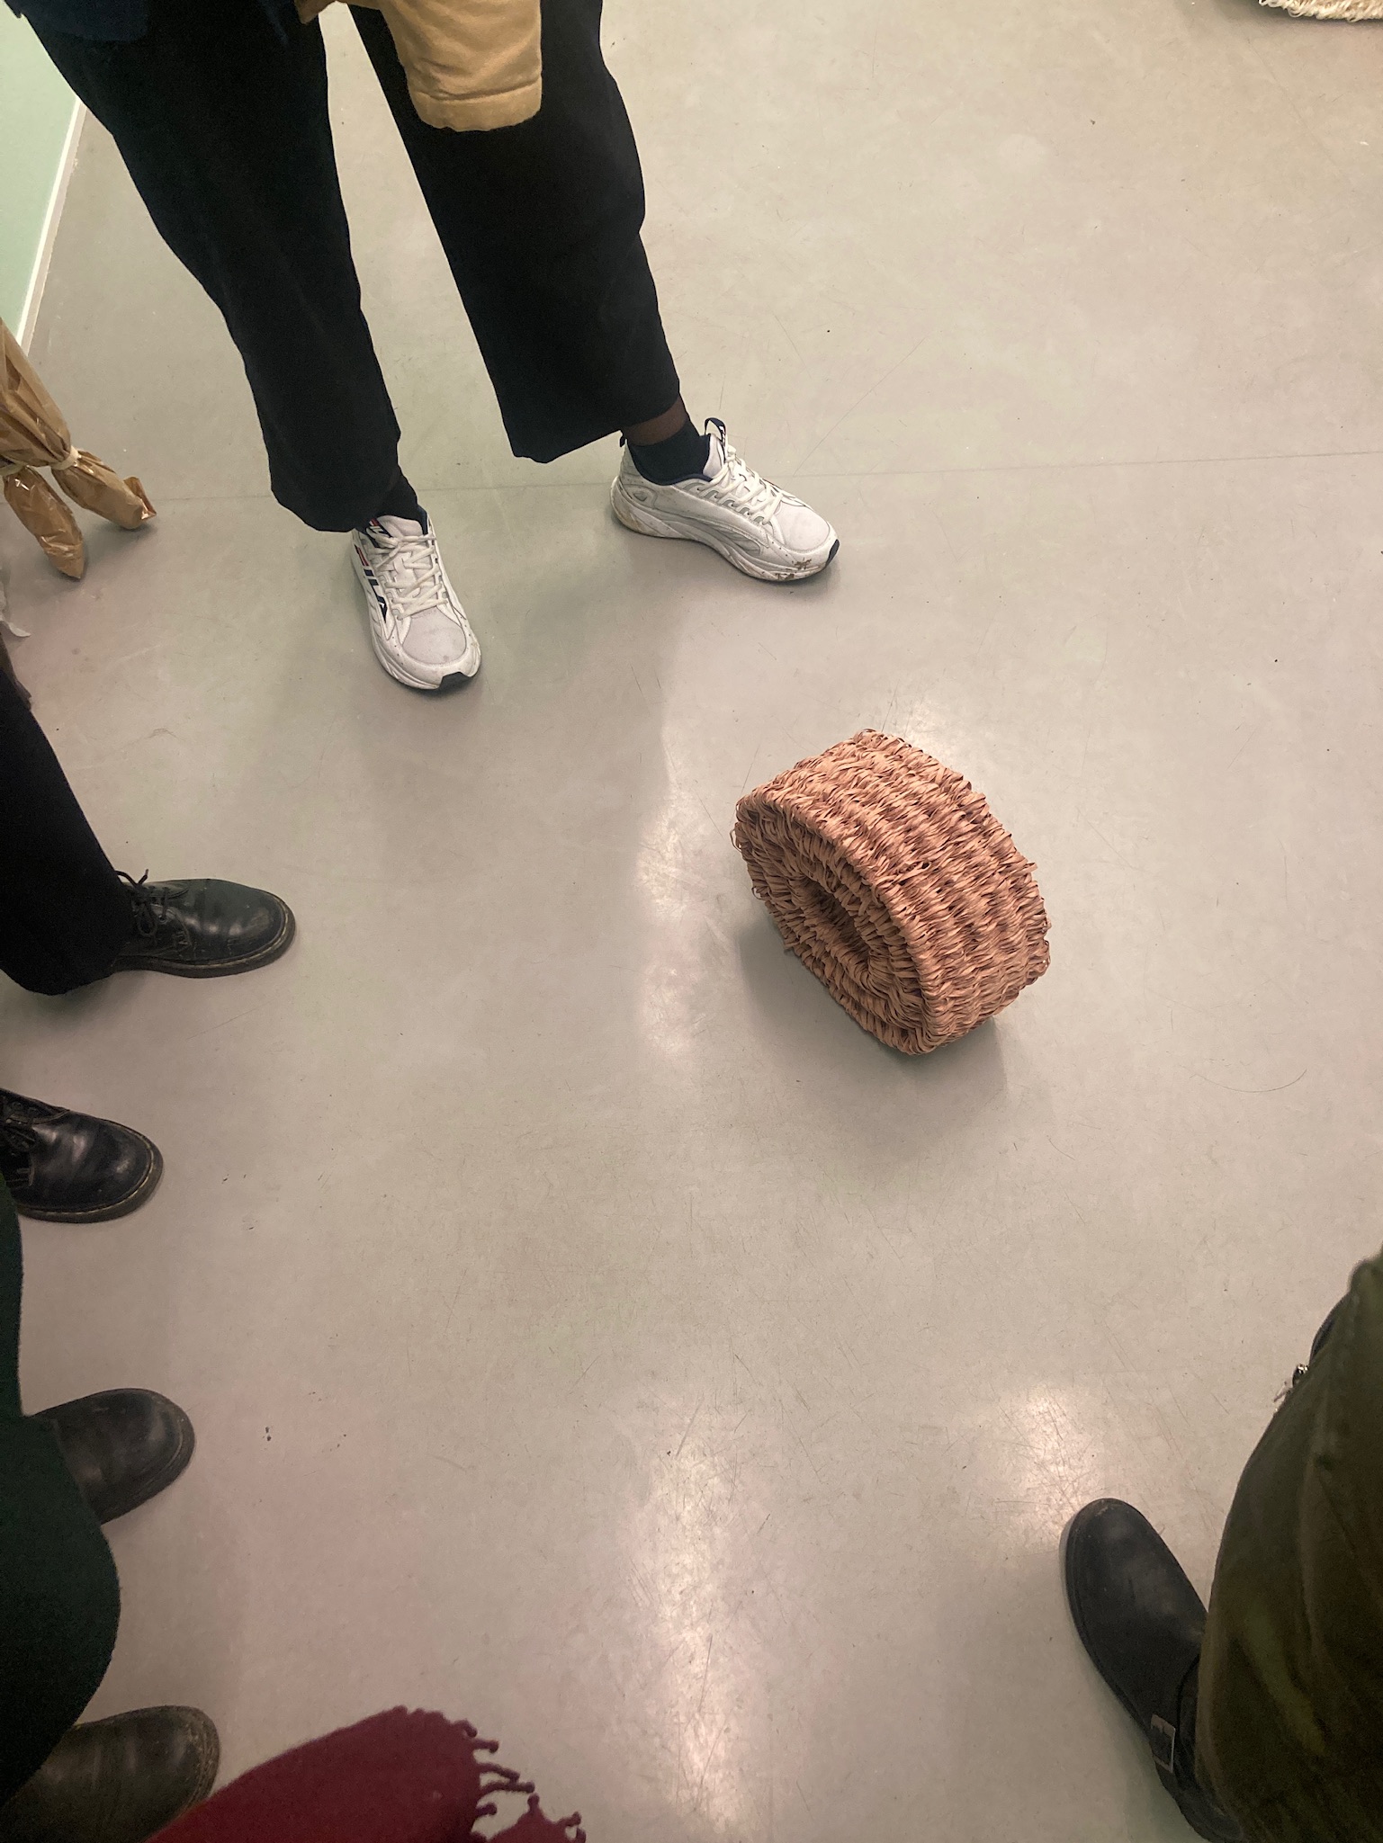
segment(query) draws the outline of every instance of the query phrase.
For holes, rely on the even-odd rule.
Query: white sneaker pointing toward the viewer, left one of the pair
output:
[[[365,590],[371,643],[384,669],[413,691],[441,691],[479,671],[479,645],[455,599],[437,534],[415,518],[372,518],[350,534]]]

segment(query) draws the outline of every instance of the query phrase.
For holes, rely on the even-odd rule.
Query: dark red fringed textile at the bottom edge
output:
[[[389,1708],[242,1773],[159,1832],[159,1843],[467,1843],[496,1797],[527,1810],[491,1843],[585,1843],[581,1817],[544,1817],[527,1780],[479,1760],[468,1721]]]

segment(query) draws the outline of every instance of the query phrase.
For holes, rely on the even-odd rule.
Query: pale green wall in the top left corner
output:
[[[0,321],[11,328],[33,275],[70,120],[72,90],[30,26],[0,6]]]

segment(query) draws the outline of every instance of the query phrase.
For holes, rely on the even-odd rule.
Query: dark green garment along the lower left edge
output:
[[[18,1218],[0,1181],[0,1801],[96,1694],[120,1587],[101,1526],[57,1441],[18,1401]]]

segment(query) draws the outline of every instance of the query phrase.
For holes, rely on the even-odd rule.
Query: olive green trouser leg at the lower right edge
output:
[[[1383,1843],[1383,1255],[1239,1480],[1197,1771],[1252,1843]]]

